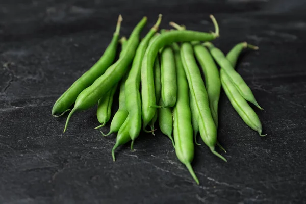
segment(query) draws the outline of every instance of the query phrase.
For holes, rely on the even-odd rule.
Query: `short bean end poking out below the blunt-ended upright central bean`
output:
[[[164,106],[163,99],[160,98],[160,105]],[[173,133],[173,117],[172,117],[172,108],[166,107],[158,109],[158,123],[159,127],[163,134],[167,135],[168,138],[171,140],[174,148],[175,144],[173,141],[172,133]]]

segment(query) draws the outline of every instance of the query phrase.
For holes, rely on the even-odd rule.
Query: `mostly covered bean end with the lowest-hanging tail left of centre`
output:
[[[123,122],[122,126],[119,129],[118,135],[116,137],[116,143],[112,148],[112,157],[113,161],[115,161],[115,150],[118,146],[126,144],[127,142],[131,141],[131,137],[129,134],[130,130],[130,115],[127,116],[125,121]]]

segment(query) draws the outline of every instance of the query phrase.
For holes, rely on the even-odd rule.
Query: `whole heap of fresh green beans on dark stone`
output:
[[[131,141],[133,150],[141,130],[155,135],[159,127],[172,142],[179,161],[199,184],[191,165],[194,144],[200,145],[196,139],[198,134],[215,156],[227,162],[216,150],[218,146],[226,153],[217,138],[221,88],[243,121],[260,136],[266,135],[262,134],[261,121],[248,102],[263,109],[235,70],[242,50],[258,47],[241,42],[225,56],[210,42],[219,37],[218,23],[214,16],[210,18],[215,32],[190,31],[184,25],[170,22],[175,30],[161,29],[157,33],[162,21],[160,14],[140,41],[147,18],[142,18],[128,39],[119,40],[122,22],[119,15],[116,31],[103,56],[60,96],[52,115],[60,117],[70,111],[65,132],[73,113],[97,105],[100,124],[95,129],[103,129],[111,119],[113,100],[117,100],[115,92],[120,87],[119,108],[111,120],[110,130],[107,134],[101,131],[103,136],[117,133],[111,150],[113,161],[119,146]],[[113,63],[119,42],[121,52]]]

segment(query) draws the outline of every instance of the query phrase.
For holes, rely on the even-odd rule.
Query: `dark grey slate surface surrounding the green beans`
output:
[[[305,203],[306,17],[303,1],[1,1],[0,203]],[[115,138],[93,130],[95,108],[53,118],[55,100],[103,53],[118,14],[122,34],[163,13],[199,31],[220,23],[224,52],[240,41],[238,71],[253,90],[264,126],[249,129],[222,92],[218,138],[222,162],[197,146],[197,186],[157,131],[110,150]],[[114,109],[116,109],[116,106]],[[103,131],[108,131],[109,125]]]

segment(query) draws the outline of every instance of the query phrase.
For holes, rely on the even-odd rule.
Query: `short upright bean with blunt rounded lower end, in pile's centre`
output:
[[[176,68],[171,46],[165,46],[161,52],[162,100],[165,107],[173,107],[176,102]]]

